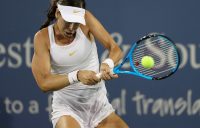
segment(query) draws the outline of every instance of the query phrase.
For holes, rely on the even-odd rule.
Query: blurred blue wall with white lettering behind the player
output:
[[[200,1],[86,0],[126,54],[151,32],[171,37],[181,54],[178,72],[162,81],[121,75],[107,82],[109,100],[130,128],[200,127]],[[51,128],[51,93],[31,72],[33,36],[49,0],[0,1],[0,128]],[[100,60],[107,51],[98,44]],[[125,68],[128,65],[125,65]]]

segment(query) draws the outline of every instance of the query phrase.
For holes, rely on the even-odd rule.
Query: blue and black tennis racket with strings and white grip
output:
[[[154,66],[146,68],[142,58],[153,58]],[[130,68],[122,66],[129,60]],[[180,56],[174,42],[161,34],[149,34],[134,43],[122,63],[112,69],[113,74],[129,74],[149,80],[161,80],[174,74],[180,64]],[[97,74],[101,78],[101,73]]]

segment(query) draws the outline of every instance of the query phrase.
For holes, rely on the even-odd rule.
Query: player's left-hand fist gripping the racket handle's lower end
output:
[[[101,81],[96,77],[96,72],[90,70],[79,70],[77,77],[85,85],[95,85]]]

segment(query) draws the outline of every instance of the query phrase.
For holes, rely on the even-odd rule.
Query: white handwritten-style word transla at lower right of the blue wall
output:
[[[186,99],[179,97],[177,100],[172,98],[146,98],[144,94],[137,91],[132,100],[136,104],[136,113],[140,116],[153,114],[164,117],[168,115],[180,116],[183,113],[188,116],[200,114],[200,99],[192,102],[192,90],[187,91]]]

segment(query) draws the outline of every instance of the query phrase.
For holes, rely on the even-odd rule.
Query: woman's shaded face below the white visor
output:
[[[80,26],[80,23],[67,22],[62,18],[60,12],[58,13],[59,13],[59,16],[57,19],[57,25],[58,25],[58,29],[60,33],[64,37],[68,37],[68,38],[74,37],[76,30]]]

